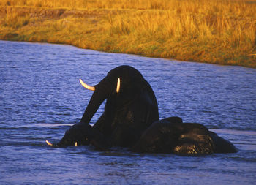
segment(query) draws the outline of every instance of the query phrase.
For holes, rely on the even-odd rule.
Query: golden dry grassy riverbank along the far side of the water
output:
[[[256,67],[256,1],[0,0],[0,39]]]

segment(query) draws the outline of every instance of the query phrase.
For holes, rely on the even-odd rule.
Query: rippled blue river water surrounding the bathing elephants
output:
[[[238,153],[48,147],[45,140],[57,142],[83,116],[91,91],[78,79],[95,85],[123,64],[151,84],[160,118],[204,124]],[[0,41],[0,184],[256,184],[255,95],[256,69]]]

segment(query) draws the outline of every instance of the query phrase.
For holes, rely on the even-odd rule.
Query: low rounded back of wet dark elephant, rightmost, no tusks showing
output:
[[[155,121],[132,147],[138,153],[204,155],[236,153],[230,141],[209,131],[203,124],[183,123],[179,117]]]

